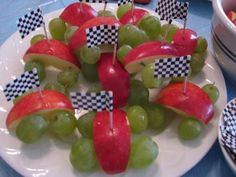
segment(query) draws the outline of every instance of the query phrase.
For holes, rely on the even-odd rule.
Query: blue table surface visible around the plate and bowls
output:
[[[148,9],[154,10],[158,0],[151,0],[147,5],[138,5]],[[49,3],[48,3],[49,2]],[[50,3],[53,2],[53,3]],[[72,0],[4,0],[0,3],[0,45],[14,33],[16,29],[15,21],[17,18],[25,13],[25,9],[30,7],[36,7],[39,4],[44,4],[43,10],[45,13],[51,12],[53,10],[62,8],[63,5],[67,5]],[[109,0],[109,2],[115,2],[114,0]],[[209,48],[211,50],[210,41],[210,25],[211,18],[213,15],[211,1],[208,0],[189,0],[190,9],[187,21],[187,27],[195,30],[198,35],[207,38],[209,43]],[[225,77],[227,86],[227,100],[231,100],[236,97],[236,86],[233,85]],[[0,176],[1,177],[21,177],[14,169],[12,169],[6,162],[0,158]],[[184,177],[233,177],[235,176],[228,164],[226,163],[223,154],[220,150],[218,141],[214,143],[207,155],[189,172],[187,172]]]

